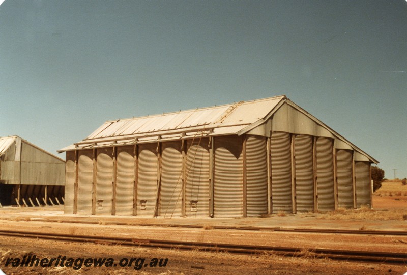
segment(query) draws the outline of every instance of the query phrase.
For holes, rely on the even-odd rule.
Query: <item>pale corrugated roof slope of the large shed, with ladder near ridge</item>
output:
[[[84,140],[58,152],[75,148],[103,147],[115,143],[132,144],[180,139],[197,133],[199,136],[235,134],[267,117],[286,98],[285,95],[280,95],[161,115],[110,120]]]

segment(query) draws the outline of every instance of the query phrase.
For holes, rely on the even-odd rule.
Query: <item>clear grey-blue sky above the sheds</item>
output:
[[[280,94],[407,177],[407,2],[0,5],[0,136],[55,154],[106,120]]]

